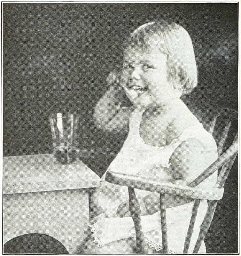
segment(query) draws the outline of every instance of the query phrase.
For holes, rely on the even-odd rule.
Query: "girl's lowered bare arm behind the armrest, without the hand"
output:
[[[206,148],[196,139],[184,141],[171,156],[171,166],[168,171],[174,184],[188,185],[211,163],[212,157]],[[209,180],[209,187],[213,187],[215,180]],[[159,193],[152,193],[144,197],[144,204],[149,214],[160,210]],[[191,199],[166,195],[166,208],[189,203]]]

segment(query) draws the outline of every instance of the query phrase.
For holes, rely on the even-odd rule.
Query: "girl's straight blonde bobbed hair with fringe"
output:
[[[181,25],[166,20],[145,23],[125,39],[123,49],[129,47],[143,52],[158,47],[160,52],[168,55],[169,79],[174,85],[182,85],[183,93],[191,92],[197,86],[198,72],[192,41]]]

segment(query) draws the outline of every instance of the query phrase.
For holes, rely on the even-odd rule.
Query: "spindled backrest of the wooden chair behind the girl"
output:
[[[207,121],[206,123],[204,123],[204,127],[208,132],[213,135],[214,139],[216,140],[219,158],[217,161],[211,164],[198,178],[191,182],[189,186],[197,186],[200,181],[205,180],[205,178],[207,178],[210,173],[212,174],[214,171],[218,170],[218,179],[214,187],[223,188],[228,178],[231,167],[238,154],[238,113],[236,110],[230,108],[221,108],[217,106],[206,109],[203,117],[203,120],[205,120],[206,118]],[[226,150],[227,148],[228,150]],[[224,150],[226,151],[223,153]],[[198,253],[201,243],[207,234],[207,231],[214,216],[217,202],[217,200],[208,201],[208,210],[200,227],[198,240],[194,247],[193,253]],[[196,219],[198,206],[199,202],[198,200],[195,200],[183,253],[188,252],[190,237]]]

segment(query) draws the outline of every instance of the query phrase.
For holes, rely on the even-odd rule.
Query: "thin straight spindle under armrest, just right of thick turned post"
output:
[[[165,194],[160,194],[160,213],[161,213],[161,236],[162,236],[162,253],[167,254],[167,217],[165,207]]]

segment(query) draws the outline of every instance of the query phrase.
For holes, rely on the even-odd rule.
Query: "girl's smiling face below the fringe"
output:
[[[142,52],[127,48],[123,56],[121,83],[137,92],[138,96],[130,99],[134,106],[161,107],[174,97],[175,89],[168,79],[167,55],[159,49]]]

